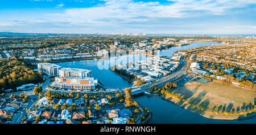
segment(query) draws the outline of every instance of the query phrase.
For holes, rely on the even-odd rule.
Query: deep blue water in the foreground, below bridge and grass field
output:
[[[151,97],[148,95],[137,95],[135,100],[147,107],[152,113],[148,123],[156,124],[231,124],[231,123],[256,123],[256,117],[245,120],[214,120],[197,115],[191,111],[185,110],[176,104],[168,102],[162,98]]]

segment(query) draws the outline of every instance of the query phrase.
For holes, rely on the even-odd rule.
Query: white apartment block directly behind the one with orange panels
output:
[[[91,77],[90,70],[77,68],[61,68],[59,70],[60,77]]]

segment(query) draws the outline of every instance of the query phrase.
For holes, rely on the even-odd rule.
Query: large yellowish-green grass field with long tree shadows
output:
[[[207,84],[192,82],[180,89],[172,90],[181,95],[187,102],[204,107],[204,113],[213,115],[214,112],[241,112],[254,107],[256,92],[242,89],[238,86],[222,84],[213,80]],[[220,115],[220,114],[216,114]]]

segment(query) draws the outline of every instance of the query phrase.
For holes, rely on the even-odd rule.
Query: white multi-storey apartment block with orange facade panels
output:
[[[71,90],[95,90],[98,80],[93,77],[55,77],[52,86]]]

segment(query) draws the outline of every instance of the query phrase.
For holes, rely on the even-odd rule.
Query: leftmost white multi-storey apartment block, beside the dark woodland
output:
[[[61,67],[51,63],[38,63],[38,70],[49,76],[58,76]]]

